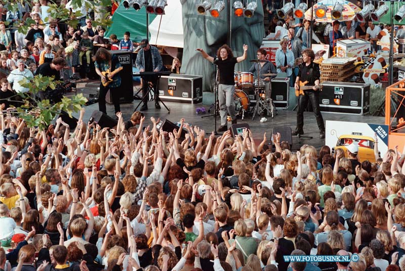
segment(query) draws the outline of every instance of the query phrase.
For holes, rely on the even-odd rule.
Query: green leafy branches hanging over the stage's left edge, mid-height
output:
[[[58,82],[54,80],[54,77],[35,75],[31,81],[24,78],[19,83],[29,88],[29,93],[32,94],[20,94],[23,105],[17,108],[17,112],[28,127],[45,129],[62,110],[71,117],[73,112],[80,111],[87,102],[83,94],[63,97],[61,102],[54,105],[51,105],[49,100],[38,101],[36,98],[32,98],[36,97],[39,91],[46,91],[48,86],[55,89]]]

